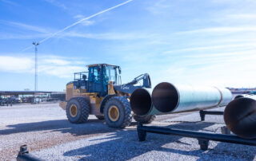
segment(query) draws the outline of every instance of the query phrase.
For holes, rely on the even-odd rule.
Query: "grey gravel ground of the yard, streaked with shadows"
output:
[[[118,130],[90,116],[86,124],[70,124],[58,104],[0,107],[0,114],[0,160],[14,160],[27,144],[32,154],[46,160],[256,161],[256,147],[251,146],[210,141],[210,149],[202,151],[197,139],[172,135],[147,133],[146,141],[138,142],[135,123]],[[198,112],[188,112],[157,116],[151,125],[216,133],[224,126],[222,116],[199,120]]]

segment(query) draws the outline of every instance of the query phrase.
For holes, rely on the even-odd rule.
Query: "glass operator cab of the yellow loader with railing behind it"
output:
[[[122,84],[121,68],[117,65],[87,65],[88,72],[74,73],[75,88],[84,88],[87,92],[98,92],[98,96],[107,95],[107,86]],[[88,78],[88,79],[87,79]]]

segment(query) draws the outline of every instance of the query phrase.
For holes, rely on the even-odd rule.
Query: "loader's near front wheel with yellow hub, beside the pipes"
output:
[[[123,96],[110,98],[104,107],[106,124],[111,128],[125,128],[132,120],[129,101]]]

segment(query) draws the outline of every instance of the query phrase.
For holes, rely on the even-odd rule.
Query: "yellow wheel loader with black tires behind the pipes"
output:
[[[66,110],[70,123],[82,124],[89,115],[105,120],[112,128],[125,128],[132,120],[130,95],[137,88],[151,88],[150,76],[145,73],[122,84],[118,65],[87,65],[88,72],[74,73],[74,81],[66,84],[66,101],[60,107]],[[141,85],[138,84],[142,81]],[[134,116],[144,124],[155,116]]]

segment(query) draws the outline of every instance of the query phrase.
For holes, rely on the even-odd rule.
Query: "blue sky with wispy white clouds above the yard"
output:
[[[0,0],[0,90],[34,89],[32,41],[120,0]],[[256,1],[133,0],[38,45],[38,90],[62,91],[86,65],[122,67],[122,82],[255,87]],[[26,49],[25,51],[23,49]]]

